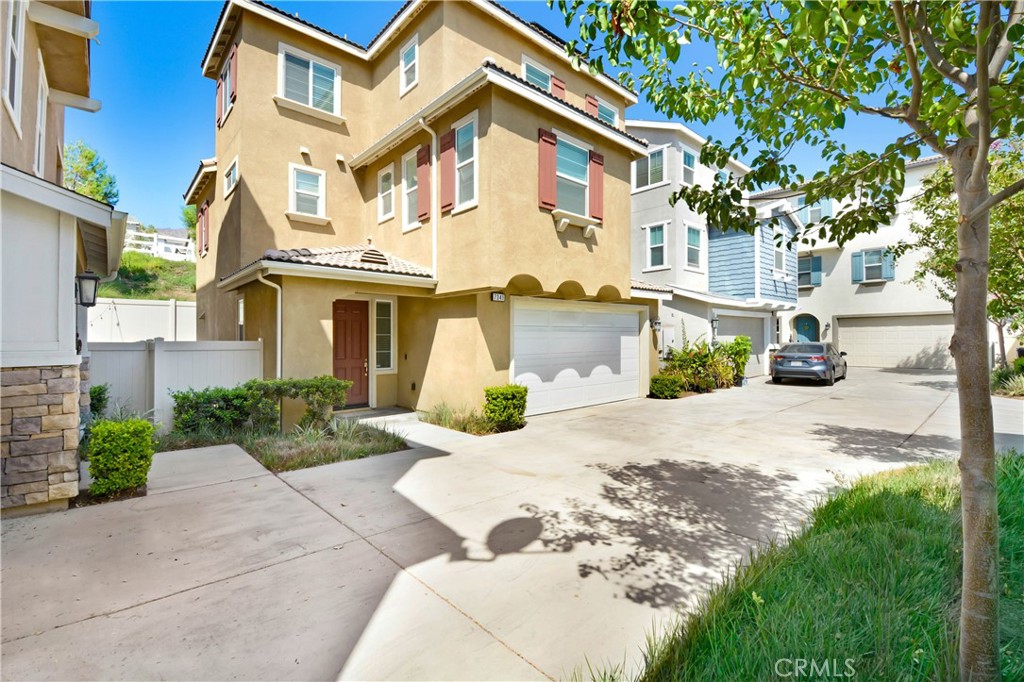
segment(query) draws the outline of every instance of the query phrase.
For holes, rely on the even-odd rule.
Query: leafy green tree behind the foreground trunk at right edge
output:
[[[1024,177],[1024,139],[1014,138],[993,144],[990,182],[994,190]],[[942,167],[926,180],[927,191],[913,207],[925,218],[910,224],[912,242],[895,249],[902,256],[920,249],[913,281],[931,283],[943,299],[956,295],[956,224],[959,211],[953,191],[953,175]],[[1024,331],[1024,194],[1010,197],[992,208],[988,256],[988,318],[996,326],[999,364],[1006,365],[1004,330]]]

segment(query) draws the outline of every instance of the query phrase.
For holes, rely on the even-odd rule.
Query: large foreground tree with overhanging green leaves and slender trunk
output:
[[[691,2],[549,0],[577,22],[566,45],[578,65],[626,69],[654,109],[684,121],[735,121],[732,141],[710,140],[701,162],[753,159],[733,186],[677,191],[709,222],[752,230],[745,193],[801,188],[808,203],[837,200],[837,215],[800,239],[845,244],[891,221],[906,163],[930,147],[951,169],[957,210],[956,294],[950,351],[961,411],[964,564],[959,666],[965,680],[999,675],[998,520],[995,447],[985,342],[989,211],[1024,189],[1024,177],[992,193],[993,141],[1024,134],[1024,1],[904,2],[781,0]],[[716,68],[680,63],[693,41],[711,45]],[[579,52],[578,52],[579,50]],[[709,73],[710,72],[710,73]],[[897,124],[881,152],[836,138],[850,116]],[[886,134],[880,127],[874,138]],[[796,144],[812,147],[826,170],[805,177],[786,162]]]

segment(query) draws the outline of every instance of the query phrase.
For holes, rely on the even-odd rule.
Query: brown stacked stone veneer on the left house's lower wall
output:
[[[0,376],[3,509],[67,507],[78,495],[78,366],[3,368]]]

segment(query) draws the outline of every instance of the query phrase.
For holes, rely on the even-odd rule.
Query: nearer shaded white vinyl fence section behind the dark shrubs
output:
[[[110,384],[108,410],[123,404],[153,411],[161,433],[171,428],[170,391],[212,386],[233,387],[263,378],[260,341],[135,341],[89,343],[90,381]]]

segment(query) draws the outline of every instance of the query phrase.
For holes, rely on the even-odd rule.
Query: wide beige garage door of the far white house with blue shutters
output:
[[[839,349],[851,367],[948,370],[953,316],[840,317]]]

